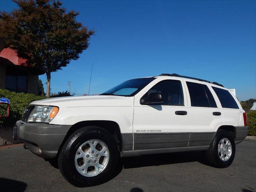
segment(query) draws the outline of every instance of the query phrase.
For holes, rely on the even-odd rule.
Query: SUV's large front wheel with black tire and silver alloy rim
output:
[[[93,148],[94,144],[96,144],[95,148]],[[107,150],[101,152],[105,149],[104,145]],[[84,150],[84,148],[86,149]],[[81,155],[82,158],[78,158]],[[60,150],[58,166],[64,178],[74,186],[91,186],[103,183],[110,177],[116,168],[118,158],[118,145],[112,134],[97,126],[87,126],[76,130],[67,139]],[[94,160],[97,161],[95,164]],[[104,168],[98,167],[103,167],[100,163],[105,164]],[[87,168],[81,170],[82,166]]]

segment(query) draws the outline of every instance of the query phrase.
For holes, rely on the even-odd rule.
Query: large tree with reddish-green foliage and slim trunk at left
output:
[[[18,9],[0,12],[4,22],[0,36],[18,56],[46,72],[46,96],[50,96],[51,72],[77,60],[89,46],[94,30],[76,21],[78,12],[66,12],[60,1],[13,0]]]

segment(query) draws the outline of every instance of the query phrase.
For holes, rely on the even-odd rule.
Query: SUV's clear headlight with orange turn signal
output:
[[[28,117],[28,122],[45,122],[48,123],[56,116],[59,108],[53,106],[35,106],[30,116]]]

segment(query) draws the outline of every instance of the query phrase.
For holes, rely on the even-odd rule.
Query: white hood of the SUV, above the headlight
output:
[[[132,106],[134,97],[92,95],[56,97],[33,101],[31,105],[51,105],[58,107],[83,107],[83,106]]]

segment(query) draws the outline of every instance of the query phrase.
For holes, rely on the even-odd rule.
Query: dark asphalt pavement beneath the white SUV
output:
[[[0,149],[0,191],[256,191],[256,140],[237,145],[233,164],[209,166],[202,152],[124,158],[109,181],[89,188],[70,185],[54,168],[23,146]]]

